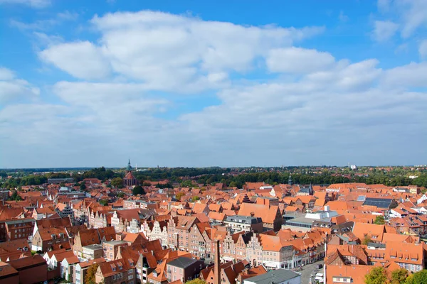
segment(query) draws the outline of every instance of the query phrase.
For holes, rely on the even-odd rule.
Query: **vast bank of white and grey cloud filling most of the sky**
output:
[[[117,166],[129,156],[144,166],[426,159],[427,96],[411,92],[425,87],[424,63],[383,70],[376,59],[335,60],[293,46],[322,28],[149,11],[107,14],[93,24],[100,31],[93,42],[38,35],[48,45],[43,61],[100,82],[57,82],[40,97],[56,96],[58,104],[0,109],[0,144],[11,149],[1,165]],[[0,69],[0,78],[17,80],[10,70]]]

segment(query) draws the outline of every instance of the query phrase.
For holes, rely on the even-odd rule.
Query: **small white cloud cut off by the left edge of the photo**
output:
[[[25,80],[17,79],[12,70],[0,67],[0,103],[37,97],[40,90]]]

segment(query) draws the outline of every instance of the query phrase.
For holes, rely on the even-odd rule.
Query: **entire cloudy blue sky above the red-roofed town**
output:
[[[0,38],[0,168],[426,164],[425,0],[0,0]]]

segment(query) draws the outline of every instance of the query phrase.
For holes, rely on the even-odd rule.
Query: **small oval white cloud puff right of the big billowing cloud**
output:
[[[292,47],[270,50],[266,62],[272,72],[308,73],[331,67],[335,59],[330,53]]]

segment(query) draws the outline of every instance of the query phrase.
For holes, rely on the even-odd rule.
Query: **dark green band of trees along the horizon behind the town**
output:
[[[224,168],[153,168],[143,171],[134,172],[135,178],[140,182],[148,185],[149,181],[169,180],[167,186],[171,187],[172,183],[181,183],[183,186],[191,185],[191,181],[211,185],[216,182],[222,182],[230,187],[241,188],[245,182],[265,182],[270,185],[279,183],[288,183],[290,173],[260,172],[260,173],[239,173],[231,175],[231,169]],[[418,178],[410,179],[406,177],[407,173],[402,172],[400,175],[390,173],[370,173],[368,177],[358,176],[350,173],[349,175],[337,176],[332,173],[292,173],[292,183],[299,185],[330,185],[332,183],[342,182],[364,182],[368,185],[383,184],[387,186],[406,186],[418,185],[427,187],[427,174],[421,173]],[[104,167],[88,170],[83,174],[79,173],[46,173],[44,175],[25,175],[16,178],[0,180],[0,187],[14,188],[23,185],[42,185],[48,178],[73,178],[74,182],[80,182],[85,178],[97,178],[104,182],[113,178],[123,178],[125,171],[114,172]],[[1,175],[2,177],[4,175]],[[1,183],[3,181],[3,183]]]

